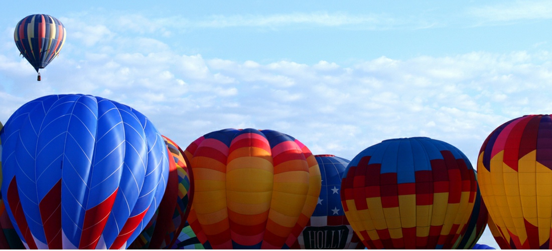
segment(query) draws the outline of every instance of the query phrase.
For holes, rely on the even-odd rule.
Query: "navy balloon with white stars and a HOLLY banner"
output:
[[[341,205],[341,177],[347,159],[331,154],[315,155],[322,175],[322,188],[309,223],[291,249],[364,249],[354,234]]]

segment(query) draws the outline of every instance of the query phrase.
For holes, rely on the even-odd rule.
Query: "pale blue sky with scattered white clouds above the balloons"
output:
[[[32,99],[84,93],[132,106],[183,148],[253,127],[352,159],[427,136],[475,168],[497,126],[552,111],[550,1],[8,1],[0,11],[2,122]],[[67,30],[41,82],[13,42],[15,24],[37,13]],[[480,243],[497,247],[489,232]]]

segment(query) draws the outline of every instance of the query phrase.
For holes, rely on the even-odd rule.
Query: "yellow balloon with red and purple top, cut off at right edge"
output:
[[[552,119],[527,115],[486,138],[477,159],[481,196],[505,242],[552,248]]]

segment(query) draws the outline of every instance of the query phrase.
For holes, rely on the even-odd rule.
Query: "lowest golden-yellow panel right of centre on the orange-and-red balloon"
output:
[[[305,199],[306,191],[305,194],[299,195],[282,193],[274,190],[272,193],[272,202],[270,202],[270,211],[277,211],[288,216],[299,216],[305,205]]]

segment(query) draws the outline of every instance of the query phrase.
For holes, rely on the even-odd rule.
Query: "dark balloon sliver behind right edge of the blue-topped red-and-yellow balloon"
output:
[[[477,181],[477,173],[475,173],[475,181]],[[475,194],[474,209],[471,211],[470,220],[466,225],[466,231],[464,236],[460,239],[457,249],[472,249],[474,245],[479,241],[481,235],[485,231],[487,226],[487,218],[489,212],[485,202],[481,200],[481,191],[479,185],[477,185],[477,193]]]

